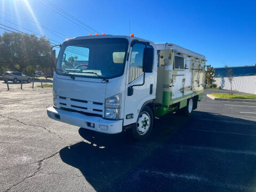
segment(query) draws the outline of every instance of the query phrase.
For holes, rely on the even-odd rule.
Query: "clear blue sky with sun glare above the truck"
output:
[[[49,1],[100,33],[129,35],[130,20],[135,36],[201,53],[207,65],[256,63],[256,1]],[[0,23],[58,42],[92,33],[51,9],[46,0],[0,0]],[[31,22],[57,31],[59,37]]]

